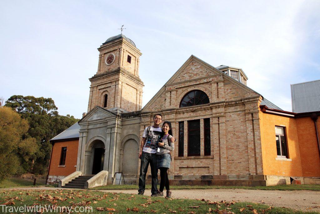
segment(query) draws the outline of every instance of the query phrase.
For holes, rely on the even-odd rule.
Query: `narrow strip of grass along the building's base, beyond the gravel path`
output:
[[[170,186],[170,189],[247,189],[247,190],[314,190],[320,191],[320,185],[276,185],[276,186]],[[106,185],[97,186],[92,189],[96,190],[138,190],[137,185]],[[146,185],[146,189],[151,189],[151,185]]]

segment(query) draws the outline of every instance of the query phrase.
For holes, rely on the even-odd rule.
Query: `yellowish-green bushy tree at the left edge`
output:
[[[36,139],[27,136],[28,121],[9,107],[0,107],[0,182],[21,170],[21,160],[37,152]]]

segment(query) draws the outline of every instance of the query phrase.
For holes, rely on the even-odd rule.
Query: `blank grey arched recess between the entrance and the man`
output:
[[[124,175],[138,174],[138,143],[129,139],[124,143],[123,158],[122,158],[122,172]]]

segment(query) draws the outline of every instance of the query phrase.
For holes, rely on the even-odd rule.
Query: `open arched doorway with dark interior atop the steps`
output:
[[[103,170],[105,146],[101,140],[94,140],[85,151],[85,174],[98,174]]]

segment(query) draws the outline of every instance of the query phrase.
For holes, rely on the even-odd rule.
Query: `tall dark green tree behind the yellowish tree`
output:
[[[35,138],[39,147],[32,157],[34,164],[24,163],[24,168],[36,175],[44,175],[52,148],[50,139],[76,123],[78,119],[73,116],[60,116],[52,98],[14,95],[5,102],[5,106],[15,109],[28,121],[28,136]]]

